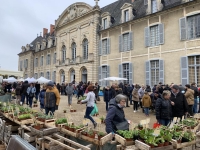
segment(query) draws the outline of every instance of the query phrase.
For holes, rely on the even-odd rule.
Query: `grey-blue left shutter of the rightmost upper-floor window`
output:
[[[186,17],[180,18],[179,26],[180,26],[180,39],[181,40],[187,40],[187,22],[186,22]]]

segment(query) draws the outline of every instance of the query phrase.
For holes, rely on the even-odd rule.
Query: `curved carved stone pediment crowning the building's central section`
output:
[[[91,10],[92,10],[92,7],[83,2],[72,4],[67,9],[65,9],[65,11],[60,15],[58,21],[56,22],[56,26],[62,25],[77,17],[80,17]]]

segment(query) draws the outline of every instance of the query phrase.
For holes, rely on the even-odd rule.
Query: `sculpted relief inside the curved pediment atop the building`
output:
[[[81,6],[81,5],[71,5],[68,10],[67,10],[67,14],[66,17],[63,21],[63,23],[66,23],[72,19],[75,19],[79,16],[82,16],[83,14],[87,13],[89,11],[89,9],[87,7]]]

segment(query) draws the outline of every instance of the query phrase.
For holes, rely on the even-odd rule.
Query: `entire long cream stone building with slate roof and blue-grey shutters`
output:
[[[119,76],[130,84],[200,85],[199,10],[200,0],[118,0],[101,9],[98,1],[75,3],[57,19],[54,36],[22,47],[19,70],[60,83]],[[51,37],[54,44],[42,48]]]

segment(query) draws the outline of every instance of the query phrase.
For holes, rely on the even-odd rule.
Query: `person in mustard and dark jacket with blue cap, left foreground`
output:
[[[47,84],[47,90],[45,94],[44,108],[46,115],[51,111],[53,114],[55,110],[58,110],[58,105],[60,103],[60,93],[57,88],[54,87],[52,81]]]

